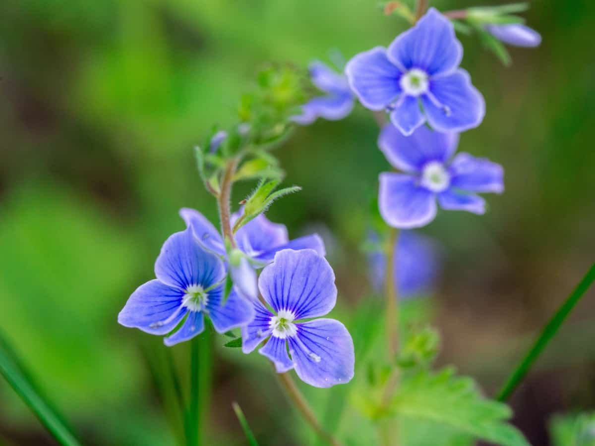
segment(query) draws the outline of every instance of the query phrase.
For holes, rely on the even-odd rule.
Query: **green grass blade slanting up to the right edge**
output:
[[[506,380],[506,384],[502,387],[502,390],[500,390],[500,393],[498,394],[498,400],[508,400],[508,398],[512,395],[512,392],[515,391],[516,387],[525,378],[525,375],[527,375],[527,372],[529,369],[531,369],[531,366],[533,366],[533,363],[537,360],[543,349],[546,348],[547,344],[556,335],[558,329],[566,320],[566,317],[568,317],[572,309],[574,309],[574,307],[581,300],[594,281],[595,263],[591,265],[591,268],[587,271],[587,274],[585,274],[574,291],[572,291],[570,296],[566,298],[562,306],[560,306],[558,311],[556,311],[556,313],[552,316],[552,319],[550,319],[546,326],[544,326],[541,334],[531,349]]]

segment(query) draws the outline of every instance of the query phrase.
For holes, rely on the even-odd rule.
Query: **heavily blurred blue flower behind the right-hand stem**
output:
[[[371,232],[368,237],[378,243],[379,237]],[[439,253],[436,243],[415,231],[400,231],[394,245],[393,277],[400,299],[410,299],[428,293],[440,274]],[[368,254],[372,287],[381,292],[386,279],[386,255],[381,250]]]

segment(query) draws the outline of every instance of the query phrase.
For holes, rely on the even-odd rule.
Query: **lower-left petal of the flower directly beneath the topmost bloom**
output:
[[[410,175],[380,174],[378,207],[390,226],[417,228],[427,225],[436,216],[434,193],[417,186],[416,181]]]

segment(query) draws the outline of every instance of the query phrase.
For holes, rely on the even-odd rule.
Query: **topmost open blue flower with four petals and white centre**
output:
[[[353,57],[345,69],[359,101],[409,135],[426,121],[439,131],[477,127],[486,106],[469,74],[459,67],[463,49],[452,23],[430,8],[389,48]]]

